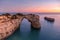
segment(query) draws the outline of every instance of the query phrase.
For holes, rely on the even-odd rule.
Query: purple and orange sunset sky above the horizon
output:
[[[0,12],[60,12],[60,0],[0,0]]]

